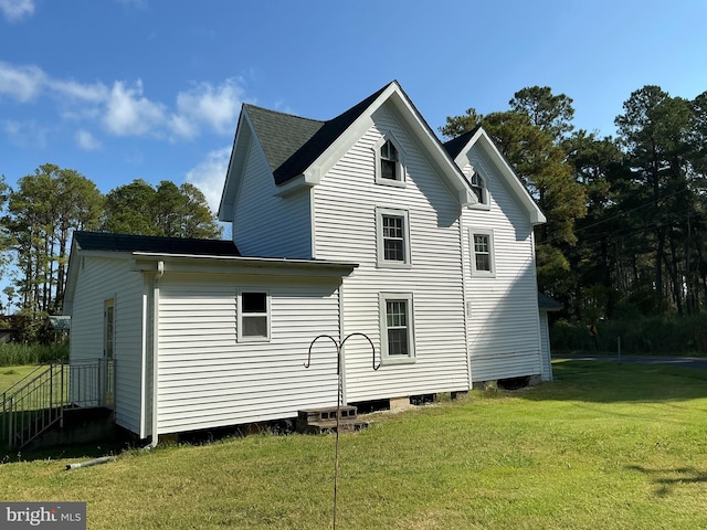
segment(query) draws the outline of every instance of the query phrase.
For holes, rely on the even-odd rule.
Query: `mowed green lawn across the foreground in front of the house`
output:
[[[707,371],[555,374],[341,435],[337,528],[707,528]],[[334,451],[333,435],[252,435],[71,471],[12,462],[0,498],[85,500],[89,529],[331,528]]]

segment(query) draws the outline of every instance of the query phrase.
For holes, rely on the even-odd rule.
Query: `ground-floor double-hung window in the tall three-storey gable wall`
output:
[[[381,359],[386,364],[414,362],[411,293],[380,294]]]

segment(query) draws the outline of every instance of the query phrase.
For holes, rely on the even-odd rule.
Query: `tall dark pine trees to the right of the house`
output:
[[[633,92],[616,137],[576,130],[572,99],[517,92],[509,108],[446,118],[446,138],[483,126],[545,212],[540,290],[584,322],[707,307],[707,92]]]

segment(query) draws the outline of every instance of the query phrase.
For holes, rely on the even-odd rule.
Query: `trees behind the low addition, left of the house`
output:
[[[46,315],[61,314],[76,230],[173,237],[220,237],[222,227],[193,184],[144,180],[105,195],[74,169],[52,163],[22,177],[14,188],[0,179],[0,266],[9,285],[7,306],[24,317],[25,340],[34,340]],[[2,307],[7,312],[9,307]]]

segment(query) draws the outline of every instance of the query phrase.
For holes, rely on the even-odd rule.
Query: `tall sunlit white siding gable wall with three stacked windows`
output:
[[[373,125],[315,187],[317,258],[356,262],[345,278],[344,335],[368,335],[381,352],[381,293],[410,295],[415,360],[372,370],[362,339],[346,344],[349,403],[468,388],[464,328],[460,205],[422,149],[383,105]],[[405,187],[376,183],[376,146],[383,136],[398,144]],[[377,265],[377,209],[404,211],[409,219],[409,268]]]

